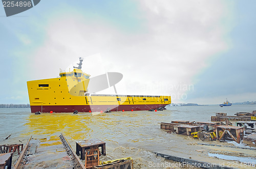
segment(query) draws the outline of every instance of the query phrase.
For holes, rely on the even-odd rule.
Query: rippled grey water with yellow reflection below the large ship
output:
[[[133,157],[137,168],[147,168],[149,162],[163,163],[153,152],[184,158],[203,158],[191,146],[196,141],[186,135],[166,133],[160,122],[174,120],[210,122],[216,112],[234,116],[236,112],[252,112],[256,105],[167,106],[163,111],[118,111],[110,113],[44,113],[31,114],[29,108],[0,109],[0,145],[26,144],[33,135],[37,139],[58,139],[63,133],[75,150],[77,140],[98,138],[106,142],[108,159]],[[9,139],[5,139],[8,137]],[[58,142],[60,143],[60,142]],[[61,143],[60,143],[61,144]],[[214,153],[214,152],[212,152]],[[203,153],[207,156],[207,153]]]

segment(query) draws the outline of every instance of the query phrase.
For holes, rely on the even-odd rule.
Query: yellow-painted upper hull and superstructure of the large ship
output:
[[[81,70],[74,69],[74,71],[72,72],[81,73]],[[36,110],[39,109],[40,111],[42,111],[44,108],[49,109],[49,107],[59,106],[59,110],[56,109],[55,112],[66,112],[65,110],[60,110],[60,106],[93,106],[95,109],[97,109],[96,106],[101,105],[104,105],[104,107],[109,106],[110,108],[113,108],[113,106],[118,107],[122,105],[122,107],[126,106],[125,108],[128,110],[129,107],[127,106],[129,105],[145,105],[145,107],[152,108],[152,106],[150,105],[159,105],[159,107],[161,107],[171,103],[170,96],[85,96],[90,79],[86,78],[87,74],[84,74],[84,76],[82,74],[81,77],[68,76],[68,74],[71,74],[72,72],[68,72],[65,76],[61,76],[59,78],[27,81],[31,112],[35,112],[35,109],[33,109],[33,107],[37,107]],[[72,112],[73,109],[71,108],[68,112]],[[88,108],[84,107],[81,111],[88,111]]]

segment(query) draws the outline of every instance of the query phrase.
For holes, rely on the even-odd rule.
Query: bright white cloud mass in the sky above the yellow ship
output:
[[[165,86],[190,85],[192,77],[207,66],[207,59],[228,47],[220,26],[227,10],[221,1],[145,0],[139,9],[143,22],[134,25],[137,32],[76,14],[51,19],[44,45],[33,54],[32,63],[39,63],[34,77],[56,77],[59,68],[65,69],[78,57],[100,53],[106,71],[124,75],[116,86],[120,94],[185,93]],[[93,69],[86,73],[94,75]]]

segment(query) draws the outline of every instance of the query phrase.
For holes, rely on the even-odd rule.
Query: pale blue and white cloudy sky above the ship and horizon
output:
[[[29,103],[27,81],[55,78],[79,57],[91,78],[121,73],[118,94],[256,101],[255,7],[253,0],[55,0],[9,17],[0,7],[0,104]]]

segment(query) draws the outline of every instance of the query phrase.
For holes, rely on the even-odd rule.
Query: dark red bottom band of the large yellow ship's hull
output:
[[[78,112],[100,112],[105,111],[106,109],[111,109],[111,111],[131,111],[132,109],[135,111],[138,110],[150,110],[157,109],[159,107],[165,107],[167,104],[137,104],[137,105],[43,105],[43,106],[30,106],[31,112],[74,112],[77,110]]]

